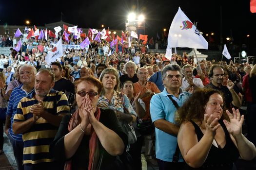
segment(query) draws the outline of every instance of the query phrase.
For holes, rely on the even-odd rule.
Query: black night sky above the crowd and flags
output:
[[[256,13],[250,12],[250,0],[0,0],[0,25],[31,25],[62,20],[78,28],[105,28],[125,30],[125,20],[131,11],[138,10],[146,17],[146,34],[156,38],[163,28],[169,31],[178,6],[204,34],[214,32],[216,42],[220,39],[220,7],[222,8],[222,34],[232,36],[234,43],[251,43],[256,39]],[[247,38],[246,35],[250,34]]]

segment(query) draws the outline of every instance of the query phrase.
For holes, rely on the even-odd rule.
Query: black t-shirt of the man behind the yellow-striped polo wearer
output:
[[[55,82],[53,89],[62,91],[64,93],[65,93],[65,91],[69,91],[69,92],[75,94],[74,84],[70,80],[67,80],[64,78],[61,78],[57,82]]]

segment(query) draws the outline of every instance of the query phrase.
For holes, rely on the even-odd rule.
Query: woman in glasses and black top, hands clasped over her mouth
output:
[[[112,109],[99,109],[101,82],[83,77],[75,82],[79,109],[65,116],[51,145],[59,170],[113,170],[127,136]]]

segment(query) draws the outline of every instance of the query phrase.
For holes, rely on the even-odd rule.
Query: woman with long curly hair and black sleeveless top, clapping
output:
[[[204,88],[178,109],[177,141],[186,170],[233,170],[238,156],[255,158],[254,144],[242,134],[244,116],[238,109],[233,108],[233,114],[225,110],[223,101],[218,90]]]

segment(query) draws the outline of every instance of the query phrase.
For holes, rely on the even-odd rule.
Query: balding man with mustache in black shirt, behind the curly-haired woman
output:
[[[227,86],[222,85],[224,80],[224,69],[220,65],[213,65],[209,70],[209,77],[212,81],[206,88],[213,88],[221,91],[224,94],[227,109],[231,110],[232,105],[239,108],[242,101],[234,90],[234,83],[231,80],[227,81]]]

